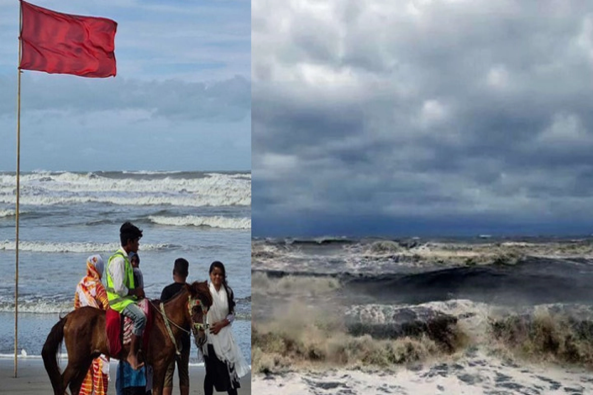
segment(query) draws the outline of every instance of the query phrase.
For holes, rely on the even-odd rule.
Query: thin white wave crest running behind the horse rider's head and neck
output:
[[[33,252],[113,252],[119,248],[118,243],[51,243],[51,242],[19,242],[19,251]],[[164,251],[181,248],[175,244],[143,244],[144,251]],[[14,251],[15,242],[4,240],[0,242],[0,251]]]

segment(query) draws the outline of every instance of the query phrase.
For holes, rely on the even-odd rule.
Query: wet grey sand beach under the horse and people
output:
[[[60,366],[65,366],[65,361],[61,361]],[[115,375],[117,362],[111,362],[110,367],[110,385],[109,395],[115,395]],[[177,374],[177,372],[176,372]],[[203,394],[202,389],[205,370],[201,366],[190,366],[190,394]],[[43,368],[43,361],[40,358],[24,358],[18,360],[18,377],[14,375],[14,359],[0,358],[0,393],[38,395],[52,394],[52,385],[47,377],[47,372]],[[177,375],[173,381],[173,393],[178,394]],[[241,378],[241,388],[239,394],[251,393],[251,375]]]

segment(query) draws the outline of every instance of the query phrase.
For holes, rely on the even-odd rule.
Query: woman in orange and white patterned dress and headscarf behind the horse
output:
[[[91,306],[96,309],[107,310],[109,301],[107,292],[101,283],[103,277],[103,258],[101,255],[91,255],[87,259],[87,275],[76,285],[74,295],[74,309]],[[80,395],[107,395],[109,383],[109,358],[101,354],[93,359],[93,364],[82,382]]]

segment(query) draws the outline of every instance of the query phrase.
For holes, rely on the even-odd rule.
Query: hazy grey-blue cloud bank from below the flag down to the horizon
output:
[[[251,89],[212,84],[23,75],[21,169],[248,170]],[[0,90],[15,92],[0,78]],[[0,169],[15,163],[14,95],[0,98]]]

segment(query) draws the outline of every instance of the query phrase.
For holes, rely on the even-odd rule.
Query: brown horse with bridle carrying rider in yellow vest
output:
[[[168,333],[160,310],[160,301],[151,301],[151,305],[154,307],[154,322],[149,333],[148,349],[142,352],[146,364],[152,365],[152,391],[155,395],[160,395],[165,372],[175,357],[176,346]],[[206,281],[186,284],[176,297],[164,304],[165,316],[177,346],[181,342],[183,331],[189,332],[190,328],[197,345],[205,342],[203,322],[211,306],[212,296]],[[68,365],[60,374],[56,355],[62,340],[66,343],[68,351]],[[125,358],[128,351],[129,344],[122,349],[120,355],[111,357]],[[47,335],[42,350],[43,365],[52,382],[54,395],[65,394],[68,387],[72,395],[77,395],[93,359],[100,354],[109,355],[104,310],[81,307],[60,319]]]

